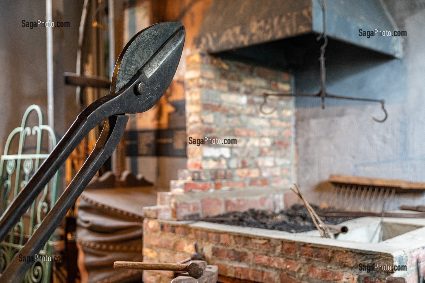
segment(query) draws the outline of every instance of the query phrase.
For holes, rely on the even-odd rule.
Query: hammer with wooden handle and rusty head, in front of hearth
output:
[[[193,260],[189,264],[183,263],[147,263],[134,261],[116,261],[113,263],[115,269],[142,269],[142,270],[173,270],[186,271],[191,277],[198,279],[207,268],[204,260]]]

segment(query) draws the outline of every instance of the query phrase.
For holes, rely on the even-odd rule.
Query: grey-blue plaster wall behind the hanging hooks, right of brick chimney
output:
[[[331,173],[425,182],[425,1],[384,0],[404,37],[404,57],[389,59],[357,49],[326,50],[329,93],[385,99],[377,103],[296,100],[297,181],[314,203],[326,201]],[[379,27],[377,27],[379,28]],[[314,62],[318,50],[307,54]],[[296,91],[320,88],[317,60],[295,72]],[[398,195],[399,204],[423,204],[423,194]]]

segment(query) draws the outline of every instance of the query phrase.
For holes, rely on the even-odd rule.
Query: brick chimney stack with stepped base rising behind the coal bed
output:
[[[262,93],[289,92],[291,76],[195,52],[186,59],[187,169],[160,192],[150,217],[205,217],[249,208],[279,211],[297,201],[294,180],[294,102]],[[237,144],[189,144],[189,138],[236,139]]]

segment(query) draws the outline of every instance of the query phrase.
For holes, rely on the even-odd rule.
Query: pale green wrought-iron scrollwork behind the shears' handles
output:
[[[31,111],[35,111],[38,117],[38,125],[34,127],[27,126],[27,119]],[[51,127],[43,125],[41,109],[38,105],[31,105],[25,111],[21,126],[12,130],[6,145],[4,153],[0,159],[0,212],[3,213],[11,201],[16,198],[20,190],[25,187],[29,178],[37,171],[39,165],[48,156],[48,149],[42,147],[43,133],[48,133],[48,143],[53,148],[56,146],[56,136]],[[31,144],[26,144],[26,138],[31,138]],[[9,147],[11,142],[19,139],[17,149],[11,154]],[[12,150],[11,150],[12,151]],[[19,250],[26,243],[28,238],[34,233],[35,229],[40,225],[44,216],[51,209],[57,200],[57,173],[54,175],[50,184],[46,185],[40,193],[36,201],[31,205],[26,214],[20,218],[20,221],[14,226],[5,240],[0,243],[0,272],[3,273],[6,266],[9,265],[15,255],[18,255]],[[53,236],[52,236],[53,237]],[[27,272],[23,282],[28,283],[47,283],[50,282],[51,276],[51,256],[53,250],[53,238],[45,244],[40,251],[40,258],[27,259],[34,262],[30,270]],[[45,257],[45,258],[42,258]],[[48,260],[50,257],[50,260]],[[31,263],[30,263],[31,264]]]

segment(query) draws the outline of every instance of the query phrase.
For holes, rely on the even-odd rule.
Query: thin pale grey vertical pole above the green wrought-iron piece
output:
[[[46,22],[53,23],[52,0],[46,0]],[[53,28],[46,26],[47,45],[47,125],[54,129],[54,96],[53,96]]]

